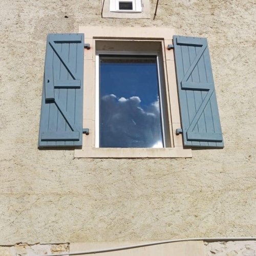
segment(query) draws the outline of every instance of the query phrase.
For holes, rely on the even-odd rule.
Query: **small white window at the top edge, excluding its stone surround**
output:
[[[141,0],[110,0],[111,12],[141,12]]]

